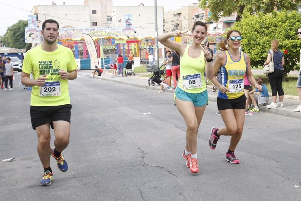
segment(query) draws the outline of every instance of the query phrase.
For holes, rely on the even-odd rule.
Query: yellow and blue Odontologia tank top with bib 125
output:
[[[227,60],[224,66],[220,68],[222,85],[226,86],[230,92],[221,93],[218,97],[222,99],[236,99],[244,95],[244,75],[246,73],[247,63],[244,53],[240,51],[240,59],[233,61],[228,51],[225,51]]]

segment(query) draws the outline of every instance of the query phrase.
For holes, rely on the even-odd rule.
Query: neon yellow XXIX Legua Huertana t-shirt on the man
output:
[[[59,96],[40,96],[40,87],[33,86],[30,105],[32,106],[57,106],[70,104],[68,81],[62,80],[58,74],[60,69],[64,71],[73,71],[77,68],[72,51],[64,46],[57,44],[57,50],[54,52],[45,52],[41,45],[26,52],[22,71],[30,74],[33,72],[33,79],[38,79],[47,74],[47,82],[59,83]],[[49,84],[49,83],[48,83]],[[57,90],[57,89],[56,89]]]

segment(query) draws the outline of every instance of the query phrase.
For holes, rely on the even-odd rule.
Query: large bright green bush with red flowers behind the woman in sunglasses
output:
[[[231,29],[239,30],[243,39],[242,50],[250,56],[251,65],[257,68],[265,62],[272,39],[278,39],[278,49],[284,53],[284,75],[297,64],[300,56],[301,40],[296,31],[300,26],[301,14],[297,11],[272,11],[270,14],[244,14],[240,22]]]

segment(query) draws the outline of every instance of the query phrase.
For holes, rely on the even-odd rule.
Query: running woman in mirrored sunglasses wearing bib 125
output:
[[[227,33],[227,44],[220,42],[220,50],[224,54],[218,55],[213,68],[208,68],[207,77],[219,88],[217,97],[217,107],[221,113],[225,127],[211,129],[209,146],[216,148],[216,143],[221,135],[231,136],[226,161],[238,164],[239,160],[234,155],[234,150],[241,138],[244,118],[246,96],[244,95],[244,74],[247,75],[249,82],[259,91],[262,89],[252,75],[250,68],[250,58],[247,54],[239,51],[241,35],[237,30],[230,30]],[[219,83],[214,74],[220,71],[222,82]],[[207,72],[206,72],[207,73]]]

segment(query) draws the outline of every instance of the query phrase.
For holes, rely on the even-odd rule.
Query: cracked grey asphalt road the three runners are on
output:
[[[301,200],[300,119],[247,116],[236,150],[241,163],[233,165],[225,161],[230,137],[209,148],[211,127],[223,125],[209,102],[198,134],[200,172],[191,174],[172,93],[83,76],[69,82],[69,169],[59,171],[51,158],[54,180],[40,187],[31,91],[15,77],[14,91],[0,91],[0,159],[15,157],[0,161],[0,200]]]

